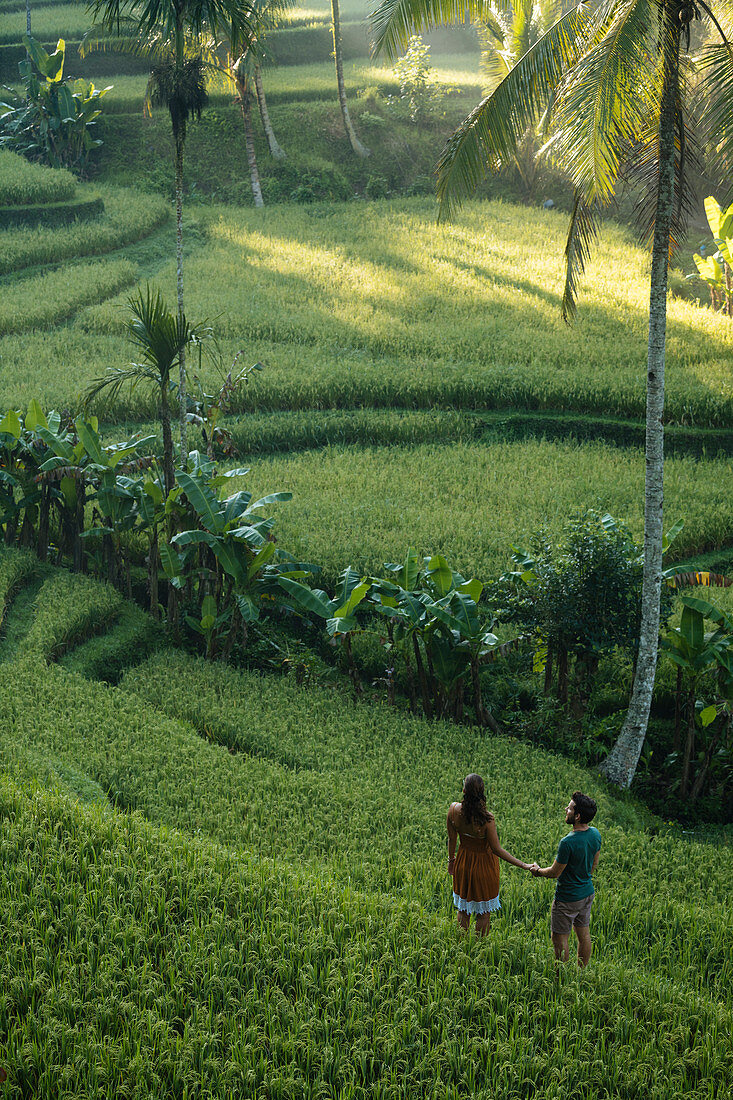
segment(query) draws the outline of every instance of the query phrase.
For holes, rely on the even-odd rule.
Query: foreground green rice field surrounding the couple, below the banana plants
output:
[[[160,649],[118,686],[47,664],[43,639],[118,629],[73,580],[0,553],[7,1094],[726,1094],[725,848],[567,760],[333,690]],[[587,971],[556,975],[551,888],[513,869],[490,937],[459,937],[444,823],[471,767],[521,858],[551,859],[569,791],[598,799]]]

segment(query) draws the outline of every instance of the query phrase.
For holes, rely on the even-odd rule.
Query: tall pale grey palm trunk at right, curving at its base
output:
[[[644,501],[644,573],[642,629],[636,674],[626,719],[601,771],[622,788],[636,772],[646,737],[659,644],[664,504],[665,339],[669,234],[675,202],[675,136],[679,82],[680,24],[667,0],[664,13],[664,84],[659,110],[659,183],[652,252],[649,343],[646,374],[646,479]]]

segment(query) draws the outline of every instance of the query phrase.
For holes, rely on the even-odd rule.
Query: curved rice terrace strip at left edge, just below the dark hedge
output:
[[[51,168],[43,170],[59,174]],[[86,188],[79,187],[78,193],[86,194]],[[102,188],[102,196],[105,212],[94,222],[51,231],[43,226],[6,230],[2,234],[0,275],[34,265],[112,252],[149,237],[169,217],[165,201],[158,196],[120,188]]]

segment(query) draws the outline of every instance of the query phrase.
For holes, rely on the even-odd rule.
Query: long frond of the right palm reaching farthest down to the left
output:
[[[437,167],[441,220],[514,155],[527,127],[537,122],[565,73],[577,64],[592,20],[584,3],[559,19],[451,134]]]

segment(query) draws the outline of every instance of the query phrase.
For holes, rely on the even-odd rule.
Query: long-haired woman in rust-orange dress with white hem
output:
[[[448,811],[448,873],[453,879],[453,905],[458,910],[459,927],[468,931],[473,913],[477,935],[485,936],[491,914],[501,909],[499,860],[505,859],[525,871],[530,865],[515,859],[500,845],[494,815],[486,810],[481,776],[466,777],[462,800],[451,802]],[[461,843],[456,856],[458,837]]]

